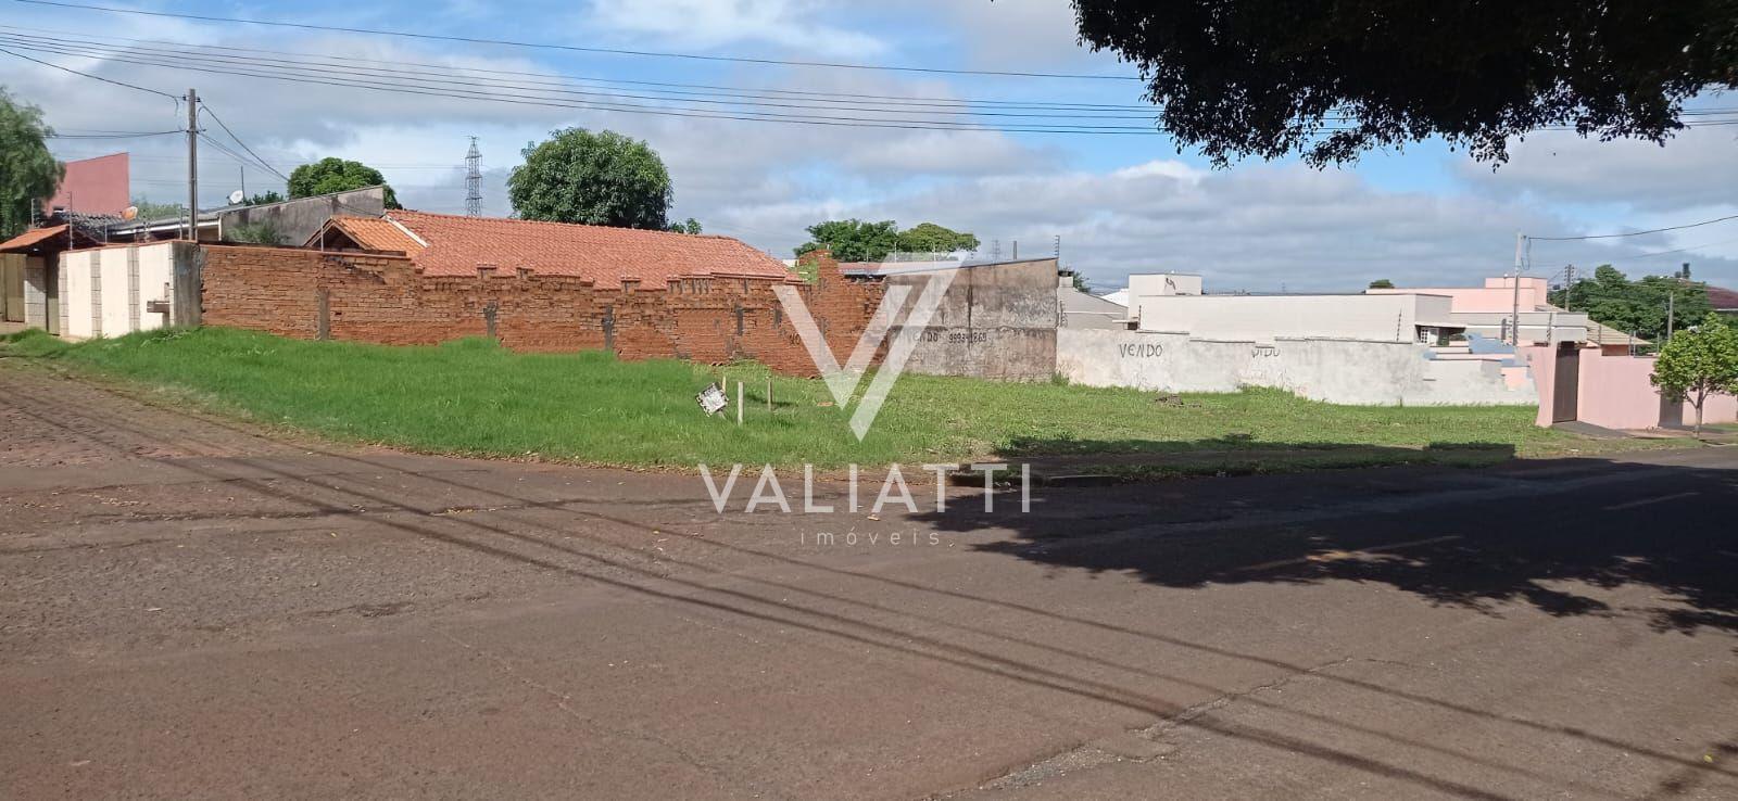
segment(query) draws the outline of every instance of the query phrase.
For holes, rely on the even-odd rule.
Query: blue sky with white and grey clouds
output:
[[[824,219],[893,219],[900,226],[928,221],[975,233],[984,242],[980,255],[1006,257],[1015,247],[1020,255],[1050,255],[1060,238],[1062,262],[1105,292],[1123,287],[1130,273],[1154,271],[1201,273],[1213,292],[1345,292],[1376,278],[1401,287],[1476,285],[1483,276],[1512,269],[1517,233],[1535,238],[1627,233],[1738,214],[1735,127],[1689,129],[1665,146],[1535,132],[1512,142],[1512,158],[1498,167],[1474,162],[1441,141],[1425,141],[1326,170],[1293,158],[1213,169],[1201,155],[1149,130],[1154,111],[1142,97],[1144,85],[1128,80],[1135,70],[1114,54],[1079,45],[1065,0],[70,2],[568,47],[189,21],[0,0],[0,49],[132,85],[0,54],[0,85],[40,106],[47,122],[68,134],[52,142],[61,158],[130,151],[134,196],[155,202],[184,202],[184,137],[92,136],[179,129],[186,109],[163,94],[181,96],[195,87],[235,139],[276,172],[323,156],[362,160],[379,167],[410,209],[464,212],[464,153],[473,136],[483,153],[483,210],[507,215],[506,177],[521,163],[521,148],[556,129],[608,129],[645,139],[660,153],[674,182],[673,219],[695,217],[707,233],[737,236],[777,257],[789,257],[793,247],[806,242],[805,228]],[[127,42],[120,40],[153,40],[132,45],[156,54],[132,50],[130,61],[118,61],[127,57]],[[236,66],[235,59],[176,57],[240,52],[212,47],[250,49],[243,54],[250,59],[325,59],[325,71],[297,75],[332,80],[285,82],[245,75],[247,63]],[[151,59],[156,63],[141,63]],[[473,80],[518,82],[520,89],[490,89],[497,97],[546,99],[556,92],[565,103],[330,85],[379,80],[379,73],[358,78],[344,70],[344,59],[368,59],[374,70],[396,70],[408,80],[441,75],[426,64],[462,68]],[[676,96],[652,83],[723,89],[674,89],[690,92]],[[733,106],[706,101],[742,90],[793,99],[789,106],[761,106],[766,116],[954,120],[982,129],[726,120],[718,116]],[[803,108],[812,96],[793,92],[905,101],[890,106],[846,99],[815,111],[812,104]],[[591,108],[580,103],[586,99]],[[959,101],[998,101],[1005,103],[998,106],[1003,113],[1062,116],[940,113],[958,109]],[[596,108],[598,103],[612,108]],[[1119,108],[1085,113],[1058,111],[1057,104]],[[1695,101],[1698,108],[1731,104],[1731,97]],[[664,111],[647,113],[647,108]],[[676,116],[669,109],[713,113]],[[1088,116],[1104,118],[1086,125],[1130,132],[1006,130],[1081,125]],[[283,191],[280,175],[242,163],[247,156],[229,132],[210,118],[202,125],[240,156],[202,142],[202,205],[221,205],[243,188]],[[1529,275],[1543,276],[1566,264],[1587,271],[1606,262],[1632,276],[1668,273],[1689,262],[1696,278],[1738,287],[1738,221],[1609,240],[1533,242],[1528,254]]]

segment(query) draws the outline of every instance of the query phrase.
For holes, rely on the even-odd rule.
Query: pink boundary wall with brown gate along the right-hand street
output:
[[[1522,348],[1540,386],[1540,426],[1550,426],[1556,391],[1556,351],[1545,346]],[[1689,403],[1672,403],[1653,386],[1653,356],[1606,354],[1582,348],[1576,419],[1609,429],[1651,429],[1689,426],[1696,410]],[[1738,398],[1715,394],[1703,405],[1703,422],[1738,422]]]

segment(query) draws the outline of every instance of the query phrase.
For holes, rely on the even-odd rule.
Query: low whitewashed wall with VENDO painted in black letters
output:
[[[1170,393],[1288,389],[1347,405],[1535,405],[1495,360],[1430,360],[1410,342],[1330,339],[1211,341],[1159,332],[1057,332],[1057,372],[1086,386]]]

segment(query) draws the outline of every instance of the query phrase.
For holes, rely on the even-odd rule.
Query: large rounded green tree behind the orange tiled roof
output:
[[[669,172],[647,142],[614,130],[565,129],[527,144],[507,177],[521,219],[589,226],[667,228]]]

